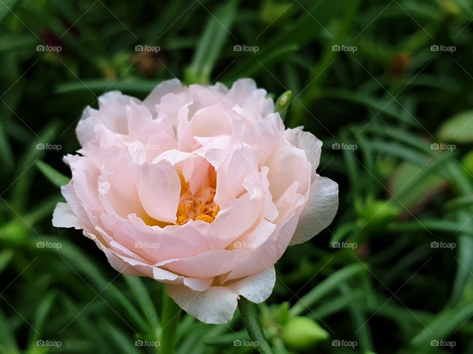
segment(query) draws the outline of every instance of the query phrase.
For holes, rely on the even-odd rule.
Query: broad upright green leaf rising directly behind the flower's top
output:
[[[230,0],[222,5],[215,15],[209,14],[209,20],[185,76],[188,83],[208,84],[210,74],[222,52],[223,46],[231,34],[236,19],[237,3]],[[233,35],[232,35],[233,36]]]

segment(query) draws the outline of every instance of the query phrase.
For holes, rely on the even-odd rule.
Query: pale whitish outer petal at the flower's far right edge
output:
[[[308,241],[329,226],[338,209],[338,184],[317,176],[310,186],[309,197],[301,212],[289,246]]]

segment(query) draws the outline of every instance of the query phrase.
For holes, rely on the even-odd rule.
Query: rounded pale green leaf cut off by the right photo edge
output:
[[[473,142],[473,110],[461,112],[448,118],[442,125],[440,125],[437,135],[440,140],[439,143]]]

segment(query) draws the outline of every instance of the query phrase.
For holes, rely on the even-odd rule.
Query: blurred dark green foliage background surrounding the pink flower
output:
[[[473,353],[469,0],[0,0],[0,353],[160,353],[162,284],[56,229],[62,156],[104,91],[250,77],[324,142],[332,225],[259,311],[274,353]],[[183,315],[177,353],[255,353]]]

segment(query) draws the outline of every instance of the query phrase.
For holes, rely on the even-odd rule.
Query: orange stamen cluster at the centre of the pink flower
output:
[[[216,173],[212,167],[208,169],[207,186],[198,193],[192,193],[184,177],[181,179],[181,196],[177,207],[177,225],[184,225],[189,220],[202,220],[211,223],[218,214],[220,207],[215,204],[213,197],[217,187]]]

